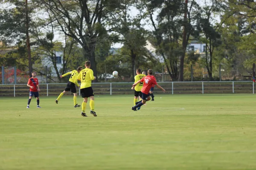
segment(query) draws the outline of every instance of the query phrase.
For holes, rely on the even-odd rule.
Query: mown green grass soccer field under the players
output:
[[[133,96],[0,98],[0,170],[255,170],[253,95],[163,95],[132,111]],[[82,102],[80,96],[79,103]]]

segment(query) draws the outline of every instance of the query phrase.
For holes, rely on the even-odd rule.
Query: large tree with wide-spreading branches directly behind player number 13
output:
[[[91,68],[97,77],[95,47],[99,38],[106,34],[104,20],[110,11],[118,8],[118,1],[38,0],[38,3],[51,12],[60,31],[81,45],[84,49],[84,59],[90,60]]]

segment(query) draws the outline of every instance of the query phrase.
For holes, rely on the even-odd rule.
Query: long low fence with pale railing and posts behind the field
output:
[[[131,90],[133,82],[92,83],[94,95],[134,94]],[[158,82],[166,93],[154,88],[154,94],[254,94],[254,82]],[[40,84],[40,96],[58,96],[66,87],[66,83]],[[80,89],[78,88],[80,95]],[[0,96],[28,96],[26,84],[0,85]],[[65,95],[73,95],[67,93]]]

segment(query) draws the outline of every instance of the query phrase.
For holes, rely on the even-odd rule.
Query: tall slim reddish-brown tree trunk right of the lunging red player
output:
[[[184,28],[183,28],[183,40],[182,40],[182,49],[183,52],[180,56],[180,71],[179,71],[179,82],[183,82],[183,70],[184,70],[184,58],[186,54],[186,34],[187,34],[187,9],[188,9],[188,0],[185,0],[185,14],[184,14]]]

